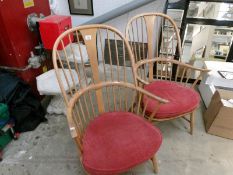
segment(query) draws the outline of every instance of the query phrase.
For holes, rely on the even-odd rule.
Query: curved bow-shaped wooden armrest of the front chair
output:
[[[147,96],[148,99],[152,99],[152,100],[158,101],[157,107],[159,107],[160,104],[164,104],[164,103],[168,103],[169,102],[168,100],[163,99],[161,97],[158,97],[158,96],[156,96],[156,95],[154,95],[154,94],[152,94],[152,93],[144,90],[143,88],[137,87],[137,86],[135,86],[134,84],[131,84],[131,83],[116,82],[115,81],[115,82],[101,82],[101,83],[98,83],[98,84],[89,85],[88,87],[86,87],[84,89],[80,89],[78,92],[76,92],[73,95],[73,97],[70,99],[70,102],[69,102],[68,107],[67,107],[67,117],[68,117],[70,128],[72,127],[71,130],[73,131],[73,129],[75,129],[75,131],[76,131],[75,133],[72,132],[72,135],[74,137],[76,137],[76,136],[82,137],[82,133],[79,134],[80,130],[78,130],[79,126],[77,126],[77,122],[74,124],[75,127],[73,127],[73,123],[72,123],[72,121],[75,118],[74,111],[75,111],[75,105],[76,105],[76,103],[79,103],[81,101],[80,99],[82,98],[82,96],[85,96],[85,94],[88,94],[90,91],[94,91],[97,94],[97,93],[101,92],[101,89],[104,90],[106,88],[109,88],[109,90],[112,89],[112,88],[116,88],[116,89],[117,88],[123,88],[123,89],[128,89],[125,92],[133,92],[133,96],[128,93],[128,94],[120,94],[121,97],[118,97],[117,93],[115,93],[115,94],[111,93],[111,95],[113,96],[113,98],[111,100],[114,101],[114,103],[112,103],[112,104],[114,104],[114,106],[118,105],[118,103],[116,103],[116,101],[115,101],[116,99],[118,99],[118,100],[121,99],[121,102],[120,102],[121,104],[127,103],[126,107],[120,109],[120,110],[125,110],[125,111],[128,111],[129,108],[130,109],[134,109],[134,107],[135,107],[134,105],[136,104],[137,105],[137,112],[136,112],[137,114],[139,114],[139,110],[141,108],[143,96]],[[119,95],[119,93],[118,93],[118,95]],[[125,97],[124,95],[128,96],[129,98]],[[107,95],[105,95],[105,97],[106,96]],[[96,96],[96,98],[98,98],[98,97]],[[104,104],[103,100],[104,100],[103,96],[101,96],[101,98],[99,98],[99,99],[96,99],[95,106],[99,107],[100,103]],[[89,103],[89,104],[91,104],[91,103]],[[85,104],[79,104],[79,105],[85,105]],[[84,107],[83,107],[83,109],[85,109]],[[155,109],[157,109],[157,107],[155,107]],[[119,108],[120,107],[117,106],[115,109],[119,110]],[[144,113],[145,113],[145,108],[146,108],[146,106],[144,106],[144,109],[143,109]],[[107,108],[107,106],[103,107],[102,109],[104,109],[104,111],[99,111],[99,113],[108,112],[109,111],[109,109]],[[134,110],[132,110],[131,112],[135,113]],[[82,113],[82,111],[80,113]],[[80,125],[82,125],[82,123],[80,123]]]

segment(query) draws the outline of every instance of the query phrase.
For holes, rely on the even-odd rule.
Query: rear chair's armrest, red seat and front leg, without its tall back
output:
[[[152,79],[150,79],[147,75],[144,74],[144,71],[142,71],[144,67],[149,66],[149,64],[151,63],[153,63],[153,65],[156,65],[157,67],[156,73],[153,74],[153,76],[156,78]],[[176,67],[176,74],[173,76],[172,70],[174,67]],[[189,105],[185,106],[185,109],[177,109],[174,115],[169,114],[168,111],[167,116],[166,113],[163,113],[159,117],[157,117],[156,115],[153,117],[146,117],[149,118],[149,120],[151,121],[167,121],[182,117],[190,123],[190,133],[193,134],[195,110],[196,108],[198,108],[200,100],[199,95],[197,94],[197,92],[195,92],[195,86],[201,80],[205,72],[208,72],[209,70],[195,68],[191,65],[181,63],[177,60],[164,58],[141,60],[135,65],[135,68],[137,70],[136,78],[139,80],[145,90],[148,90],[149,92],[156,94],[157,96],[167,99],[169,101],[168,103],[174,103],[178,100],[181,102],[177,103],[177,105],[181,105],[181,103],[192,102]],[[195,80],[192,80],[192,78],[195,78]],[[153,91],[156,86],[159,86],[158,89]],[[166,88],[167,94],[166,92],[159,92],[162,89]],[[173,97],[174,93],[178,93],[177,97]],[[194,99],[195,101],[192,101]],[[179,106],[177,105],[174,104],[173,108],[179,108]],[[166,108],[166,110],[171,109],[172,108],[169,107]],[[148,114],[150,113],[149,111]],[[189,119],[186,118],[187,115],[190,115]]]

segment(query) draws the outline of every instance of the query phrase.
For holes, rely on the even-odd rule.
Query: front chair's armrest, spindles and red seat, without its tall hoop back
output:
[[[154,155],[162,136],[143,117],[145,108],[141,110],[140,106],[143,97],[158,101],[157,107],[166,102],[124,82],[93,84],[75,93],[67,117],[75,123],[70,127],[71,135],[89,174],[118,174],[150,159],[158,172]]]

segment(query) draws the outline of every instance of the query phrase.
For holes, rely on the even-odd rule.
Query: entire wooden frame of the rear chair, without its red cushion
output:
[[[170,27],[173,28],[173,31],[175,33],[175,36],[177,38],[177,46],[175,47],[175,50],[172,51],[174,55],[176,54],[176,48],[178,48],[178,56],[181,56],[181,40],[179,36],[179,31],[178,28],[175,24],[175,22],[167,15],[162,14],[162,13],[144,13],[137,15],[133,17],[132,19],[129,20],[127,27],[126,27],[126,38],[131,41],[131,49],[132,52],[134,53],[135,56],[135,65],[134,69],[136,72],[136,79],[139,82],[140,86],[144,86],[146,84],[149,84],[155,80],[164,80],[164,81],[175,81],[177,83],[181,83],[184,86],[189,86],[190,79],[196,78],[196,80],[191,84],[191,88],[194,88],[195,85],[199,80],[201,80],[202,76],[204,73],[208,72],[209,70],[207,69],[200,69],[200,68],[195,68],[191,65],[182,63],[180,61],[174,60],[173,58],[169,58],[169,54],[159,54],[159,46],[158,46],[158,40],[160,39],[157,37],[157,42],[156,42],[156,52],[155,56],[153,56],[153,29],[155,26],[155,20],[156,18],[164,18],[162,20],[162,25],[161,25],[161,30],[162,30],[162,36],[163,37],[163,25],[164,21],[168,21],[170,23]],[[139,46],[137,46],[133,41],[135,37],[130,37],[130,28],[133,28],[132,23],[136,22],[136,27],[138,27],[137,21],[138,19],[142,19],[145,21],[146,24],[146,34],[147,34],[147,41],[148,41],[148,55],[142,54],[143,57],[137,56],[138,52],[136,51]],[[142,24],[141,24],[142,25]],[[135,26],[135,25],[134,25]],[[169,25],[168,25],[169,26]],[[133,29],[131,29],[133,31]],[[135,29],[138,31],[138,29]],[[135,31],[134,30],[134,31]],[[134,32],[131,32],[131,34]],[[137,33],[137,37],[139,32]],[[145,35],[145,34],[144,34]],[[143,36],[141,37],[143,38]],[[163,39],[162,39],[163,41]],[[161,45],[163,45],[163,42],[161,42]],[[173,46],[173,44],[172,44]],[[167,46],[168,48],[168,46]],[[140,48],[139,48],[140,49]],[[168,49],[167,49],[168,51]],[[140,59],[139,59],[140,58]],[[154,73],[154,66],[156,67],[156,72]],[[146,68],[148,68],[148,72],[146,71]],[[176,69],[175,75],[173,75],[173,71]],[[192,77],[193,74],[197,74],[196,77]],[[190,115],[190,119],[187,119],[185,116]],[[190,124],[190,133],[193,134],[193,128],[194,128],[194,117],[195,117],[195,110],[182,114],[176,117],[172,118],[164,118],[164,119],[157,119],[154,116],[146,116],[150,121],[166,121],[166,120],[171,120],[171,119],[176,119],[182,117],[185,119],[185,121],[189,122]]]

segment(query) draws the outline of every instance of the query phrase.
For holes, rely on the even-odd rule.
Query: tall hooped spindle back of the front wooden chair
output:
[[[94,72],[93,77],[91,77],[92,78],[92,80],[91,80],[92,83],[91,84],[100,83],[102,81],[114,81],[112,64],[110,64],[110,67],[111,67],[110,80],[106,79],[107,73],[106,73],[104,59],[103,59],[103,64],[102,64],[103,67],[104,67],[104,80],[101,79],[100,75],[99,75],[99,67],[98,67],[99,62],[98,62],[97,46],[96,46],[96,40],[97,40],[96,36],[97,36],[97,33],[98,33],[99,29],[106,30],[108,46],[110,45],[110,43],[109,43],[109,32],[112,31],[114,34],[118,35],[119,38],[121,38],[123,43],[124,43],[123,46],[124,46],[125,50],[127,50],[128,53],[129,53],[129,58],[130,58],[131,64],[132,65],[134,64],[134,58],[133,58],[133,54],[131,52],[129,43],[125,40],[125,38],[121,34],[121,32],[119,32],[117,29],[115,29],[115,28],[113,28],[111,26],[102,25],[102,24],[85,25],[85,26],[79,26],[79,27],[75,27],[75,28],[72,28],[72,29],[69,29],[69,30],[65,31],[64,33],[62,33],[57,38],[56,42],[54,43],[52,56],[53,56],[53,65],[54,65],[56,77],[57,77],[58,84],[60,86],[62,96],[64,98],[64,102],[65,102],[66,106],[68,106],[68,104],[69,104],[69,100],[70,100],[69,96],[71,96],[71,98],[72,98],[72,96],[75,94],[75,92],[78,92],[80,89],[86,88],[89,85],[89,83],[87,81],[87,74],[86,74],[87,67],[85,66],[85,63],[83,61],[84,58],[82,56],[82,50],[80,49],[80,42],[81,42],[81,41],[79,41],[80,37],[77,37],[77,44],[79,46],[78,49],[79,49],[79,52],[80,52],[80,55],[81,55],[81,68],[78,67],[77,61],[75,60],[75,58],[73,58],[74,70],[75,70],[75,72],[76,72],[76,74],[78,76],[79,82],[81,82],[82,79],[84,79],[84,85],[80,84],[79,88],[76,87],[75,83],[74,83],[74,76],[75,75],[71,71],[72,68],[71,68],[70,60],[68,60],[68,56],[67,56],[67,53],[65,51],[65,44],[64,44],[64,41],[63,41],[64,38],[68,37],[69,43],[72,43],[73,42],[72,41],[72,35],[74,33],[76,34],[76,36],[80,36],[80,35],[82,36],[82,38],[84,40],[84,43],[87,46],[87,53],[88,53],[89,61],[90,61],[90,68],[91,68],[92,72]],[[116,40],[116,35],[114,35],[115,40]],[[86,36],[88,36],[88,37],[86,37]],[[101,37],[101,35],[100,35],[100,37]],[[100,38],[100,40],[101,40],[101,38]],[[102,41],[100,41],[100,42],[102,42]],[[60,54],[58,52],[58,47],[59,46],[62,46],[62,50],[64,50],[65,60],[61,59],[61,56],[60,56]],[[72,51],[72,54],[73,54],[74,49],[71,48],[71,51]],[[104,55],[104,51],[103,51],[102,46],[101,46],[101,52]],[[109,49],[109,52],[111,52],[110,49]],[[111,54],[109,54],[109,55],[111,55]],[[124,64],[125,64],[125,52],[123,53],[123,55],[124,55],[123,59],[124,59]],[[118,58],[118,57],[116,57],[116,58]],[[111,57],[110,57],[110,60],[111,60]],[[110,63],[112,63],[112,61],[110,61]],[[69,73],[69,75],[67,74],[67,72],[65,72],[65,66],[68,68],[67,72]],[[62,71],[59,71],[59,67],[61,67]],[[123,67],[124,67],[123,80],[120,80],[119,79],[119,70],[120,69],[119,69],[119,65],[117,65],[117,81],[127,82],[126,66],[124,65]],[[132,67],[131,67],[131,69],[132,69],[133,84],[136,85],[135,72],[134,72],[134,69]],[[81,75],[81,71],[84,72],[83,75]],[[63,84],[62,79],[61,79],[62,75],[64,75],[65,82],[67,83],[67,85],[69,87],[68,92],[66,92],[66,90],[64,88],[64,84]],[[71,81],[68,80],[68,76],[71,77]],[[97,91],[97,95],[98,95],[98,100],[99,100],[99,103],[98,103],[99,107],[98,108],[100,108],[101,111],[104,111],[104,109],[102,108],[102,105],[100,103],[102,101],[102,98],[103,98],[102,93]],[[90,99],[90,96],[88,98]],[[87,101],[87,99],[85,99],[85,103],[87,103],[86,101]],[[68,117],[68,123],[69,123],[70,128],[75,127],[74,121],[69,117]]]

